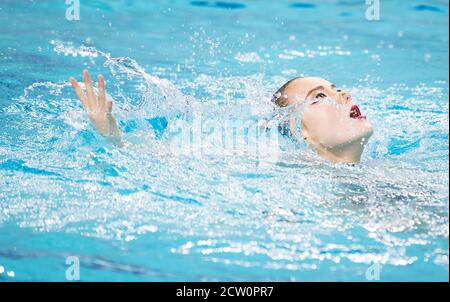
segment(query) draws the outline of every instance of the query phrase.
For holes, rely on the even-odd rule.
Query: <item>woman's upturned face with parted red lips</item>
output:
[[[307,77],[294,80],[285,90],[289,105],[304,103],[301,135],[312,145],[338,150],[357,143],[363,147],[373,133],[350,93],[322,78]],[[291,129],[297,121],[291,118]],[[362,151],[361,151],[362,152]]]

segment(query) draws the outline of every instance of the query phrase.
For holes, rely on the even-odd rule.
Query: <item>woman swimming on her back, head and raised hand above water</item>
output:
[[[105,80],[98,76],[98,95],[87,70],[83,71],[86,93],[74,78],[70,82],[99,134],[123,146],[122,132],[112,113],[112,100],[107,99]],[[343,163],[356,163],[373,128],[349,92],[318,77],[299,77],[285,83],[274,94],[272,102],[279,109],[293,113],[283,121],[288,136],[303,139],[321,157]],[[302,108],[301,116],[293,108]],[[297,125],[300,124],[300,127]],[[299,129],[300,128],[300,129]]]

